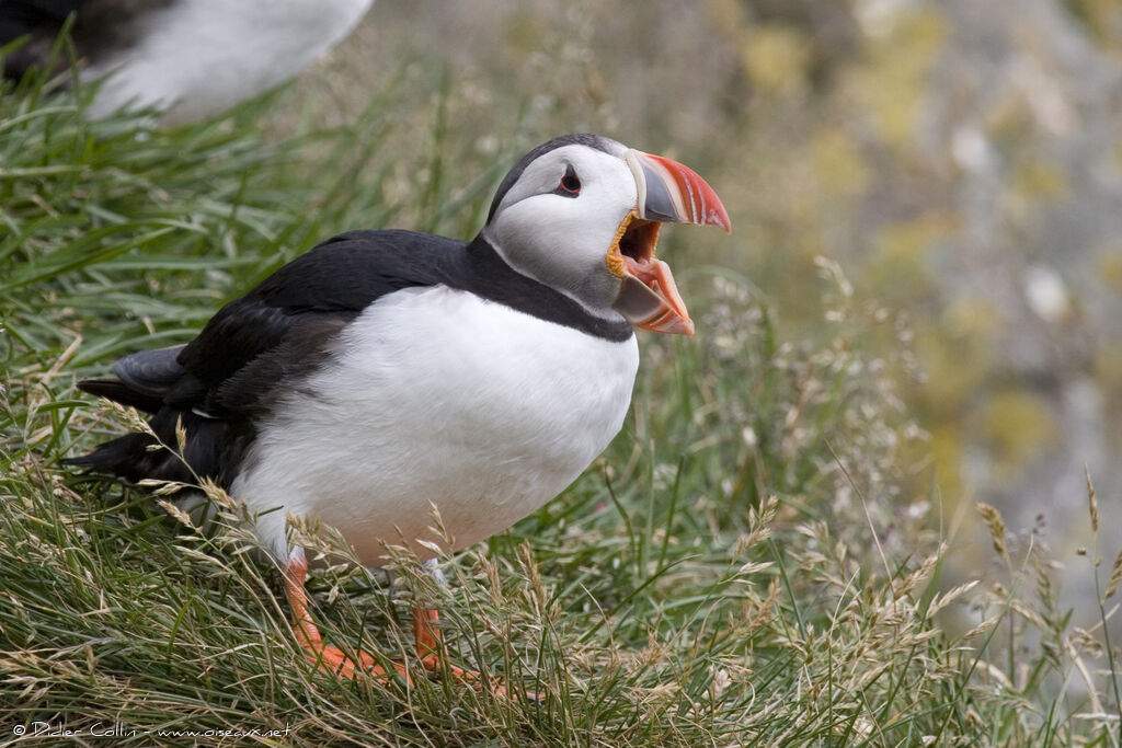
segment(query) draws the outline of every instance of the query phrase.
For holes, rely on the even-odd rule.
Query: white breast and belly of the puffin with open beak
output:
[[[283,507],[258,523],[276,552],[291,511],[338,527],[371,565],[380,541],[401,541],[395,528],[438,539],[430,502],[460,548],[557,496],[618,433],[638,368],[634,336],[603,340],[442,286],[380,299],[339,351],[258,430],[232,492]]]

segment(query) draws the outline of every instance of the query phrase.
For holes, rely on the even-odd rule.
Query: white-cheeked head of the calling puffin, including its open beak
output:
[[[516,270],[604,317],[693,333],[670,266],[654,257],[663,222],[732,223],[691,169],[596,135],[567,135],[523,156],[498,187],[484,238]]]

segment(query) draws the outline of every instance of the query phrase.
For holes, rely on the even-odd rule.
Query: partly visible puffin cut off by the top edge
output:
[[[174,124],[223,111],[294,76],[343,39],[374,0],[4,0],[4,77],[44,67],[66,19],[83,80],[101,80],[88,114],[157,108]],[[62,61],[65,64],[65,59]]]

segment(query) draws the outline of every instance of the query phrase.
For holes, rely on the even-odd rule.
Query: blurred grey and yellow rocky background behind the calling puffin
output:
[[[835,260],[927,436],[914,490],[938,487],[951,530],[969,520],[962,573],[987,546],[975,501],[1061,557],[1088,542],[1084,464],[1119,507],[1116,0],[378,0],[276,127],[349,122],[387,86],[415,96],[369,166],[393,150],[390,200],[591,130],[723,196],[732,239],[666,232],[687,286],[690,268],[738,271],[812,336],[815,258]],[[394,224],[423,229],[431,209]]]

